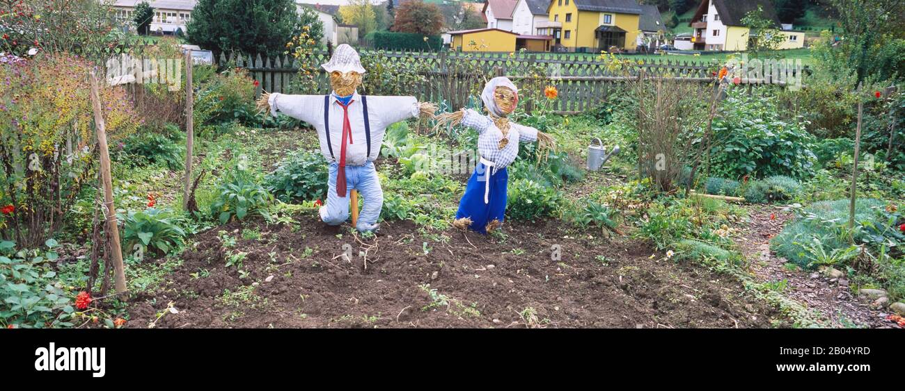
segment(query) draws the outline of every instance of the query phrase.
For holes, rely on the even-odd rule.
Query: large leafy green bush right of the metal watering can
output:
[[[814,170],[814,137],[798,121],[779,115],[776,99],[733,91],[714,119],[719,145],[711,150],[711,172],[723,178],[787,175],[806,178]]]

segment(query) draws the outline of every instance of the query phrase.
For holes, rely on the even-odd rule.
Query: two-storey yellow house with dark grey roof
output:
[[[642,8],[635,0],[552,0],[553,42],[568,51],[634,51]]]

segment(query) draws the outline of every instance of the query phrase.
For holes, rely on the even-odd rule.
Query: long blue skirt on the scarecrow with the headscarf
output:
[[[484,203],[484,191],[486,181],[491,182],[489,202]],[[505,168],[491,175],[490,167],[484,163],[478,163],[477,169],[472,173],[465,188],[465,195],[459,201],[459,211],[456,219],[472,219],[473,231],[487,234],[487,223],[493,220],[503,221],[506,213],[506,186],[509,182],[509,172]]]

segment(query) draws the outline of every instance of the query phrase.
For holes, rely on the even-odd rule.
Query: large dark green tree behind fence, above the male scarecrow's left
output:
[[[198,0],[188,40],[218,51],[276,55],[298,23],[293,0]]]

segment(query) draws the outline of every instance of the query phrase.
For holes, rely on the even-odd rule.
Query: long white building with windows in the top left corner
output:
[[[186,24],[192,20],[192,10],[197,3],[195,0],[117,0],[113,3],[117,19],[134,30],[135,6],[144,1],[154,8],[151,33],[176,33],[180,29],[186,33]]]

